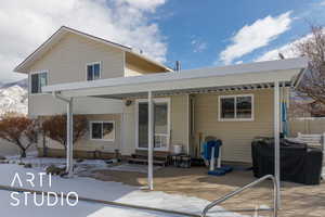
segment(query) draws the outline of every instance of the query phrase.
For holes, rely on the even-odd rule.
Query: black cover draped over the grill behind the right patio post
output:
[[[281,180],[304,184],[320,184],[323,154],[306,143],[281,139]],[[274,175],[274,139],[259,138],[251,143],[255,177]]]

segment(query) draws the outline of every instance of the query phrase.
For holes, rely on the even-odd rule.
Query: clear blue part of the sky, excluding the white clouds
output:
[[[324,24],[325,4],[313,0],[167,1],[157,11],[157,22],[168,43],[167,64],[173,65],[180,60],[183,68],[222,65],[220,52],[232,43],[231,38],[239,29],[287,12],[291,12],[287,30],[268,46],[235,60],[244,62],[252,62],[264,52],[304,36],[309,31],[307,21]]]

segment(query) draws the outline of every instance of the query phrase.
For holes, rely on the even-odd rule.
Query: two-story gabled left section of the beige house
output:
[[[64,102],[42,87],[99,79],[166,73],[171,69],[145,58],[131,48],[98,38],[79,30],[61,27],[16,68],[28,75],[28,116],[42,118],[66,113]],[[74,114],[82,114],[89,120],[89,130],[75,144],[76,157],[92,157],[91,152],[114,153],[120,150],[121,113],[123,103],[104,98],[79,98],[75,100]],[[108,132],[109,133],[105,133]],[[39,143],[42,153],[42,141]],[[47,139],[51,156],[64,156],[62,145]]]

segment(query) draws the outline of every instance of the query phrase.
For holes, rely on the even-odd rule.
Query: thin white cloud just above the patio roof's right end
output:
[[[280,48],[275,48],[273,50],[266,51],[262,55],[257,58],[255,60],[255,62],[280,60],[278,53],[282,53],[286,59],[297,58],[299,54],[295,51],[295,46],[297,43],[306,41],[307,39],[309,39],[311,37],[312,37],[312,35],[309,34],[309,35],[301,37],[292,42],[286,43]]]

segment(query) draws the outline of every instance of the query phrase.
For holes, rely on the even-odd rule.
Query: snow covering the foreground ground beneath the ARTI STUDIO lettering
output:
[[[31,161],[31,159],[30,159]],[[48,159],[50,161],[50,159]],[[32,173],[36,176],[35,187],[31,188],[30,183],[26,182],[27,175],[26,173]],[[196,213],[199,214],[205,205],[209,202],[197,199],[197,197],[190,197],[184,195],[177,195],[177,194],[167,194],[164,192],[145,192],[140,190],[138,187],[130,187],[119,182],[110,182],[110,181],[100,181],[91,178],[84,177],[74,177],[70,179],[61,178],[57,176],[52,177],[52,186],[51,188],[47,181],[49,177],[46,178],[43,186],[40,187],[40,180],[37,176],[39,171],[43,171],[41,167],[38,168],[24,168],[23,166],[16,164],[0,164],[0,184],[10,186],[15,173],[20,174],[22,178],[23,186],[26,189],[34,189],[34,190],[44,190],[44,191],[52,191],[52,192],[72,192],[75,191],[78,193],[79,196],[86,196],[91,199],[98,200],[107,200],[107,201],[115,201],[120,203],[127,204],[134,204],[134,205],[144,205],[151,206],[156,208],[166,208],[166,209],[173,209],[173,210],[181,210],[187,213]],[[18,187],[17,182],[15,182],[15,187]],[[23,202],[23,193],[20,194],[21,202]],[[103,204],[95,204],[89,202],[81,202],[74,206],[54,206],[49,207],[46,205],[36,206],[31,204],[34,197],[28,197],[28,206],[24,206],[21,204],[17,207],[11,206],[10,202],[13,200],[10,197],[10,192],[0,190],[0,210],[1,216],[24,216],[24,217],[43,217],[44,214],[47,217],[65,217],[65,216],[78,216],[78,217],[167,217],[172,216],[171,214],[162,214],[162,213],[155,213],[155,212],[146,212],[146,210],[139,210],[139,209],[131,209],[131,208],[121,208],[116,206],[107,206]],[[40,201],[41,197],[37,196],[37,201]],[[47,199],[46,199],[47,201]],[[222,209],[222,207],[217,207],[213,210]],[[233,213],[214,213],[211,212],[210,216],[222,216],[222,217],[243,217],[238,214]],[[173,216],[173,217],[177,217]]]

